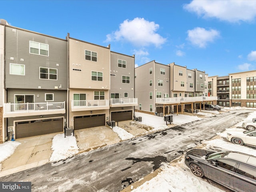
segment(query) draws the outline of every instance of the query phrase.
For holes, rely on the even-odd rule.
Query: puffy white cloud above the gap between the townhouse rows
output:
[[[107,42],[110,41],[128,41],[136,46],[149,46],[154,44],[156,47],[161,46],[166,42],[163,38],[156,33],[159,25],[155,22],[149,22],[144,18],[134,18],[134,20],[124,20],[112,34],[107,35]]]

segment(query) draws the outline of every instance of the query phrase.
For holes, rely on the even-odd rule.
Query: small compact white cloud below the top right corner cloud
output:
[[[206,30],[205,28],[200,27],[188,30],[187,33],[187,40],[189,40],[192,44],[199,46],[200,48],[206,47],[208,42],[213,42],[220,36],[220,32],[217,30]]]

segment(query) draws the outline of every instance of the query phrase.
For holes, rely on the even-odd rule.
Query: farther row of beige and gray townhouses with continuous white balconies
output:
[[[135,68],[135,73],[137,111],[149,114],[194,112],[201,109],[202,103],[217,100],[217,97],[205,93],[208,79],[205,72],[197,69],[151,61]]]

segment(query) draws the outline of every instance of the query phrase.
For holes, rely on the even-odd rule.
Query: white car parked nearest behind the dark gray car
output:
[[[238,145],[250,145],[256,147],[256,130],[230,131],[227,133],[227,140]]]

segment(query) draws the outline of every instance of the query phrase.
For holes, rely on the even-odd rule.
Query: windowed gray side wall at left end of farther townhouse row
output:
[[[149,69],[152,68],[152,74],[149,74]],[[150,111],[150,104],[155,104],[155,80],[154,80],[154,61],[135,68],[135,98],[138,98],[138,106],[135,109],[139,110],[140,104],[142,104],[142,110]],[[149,86],[149,80],[152,80],[152,86]],[[149,92],[153,93],[153,98],[149,98]]]

